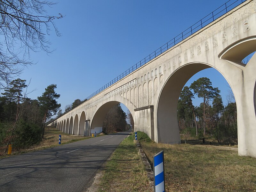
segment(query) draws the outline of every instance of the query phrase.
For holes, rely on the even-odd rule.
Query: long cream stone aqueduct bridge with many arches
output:
[[[180,143],[180,92],[190,77],[212,67],[235,95],[238,153],[256,157],[256,54],[241,64],[254,51],[256,1],[247,0],[49,125],[88,136],[121,102],[132,113],[134,131],[146,132],[156,142]]]

